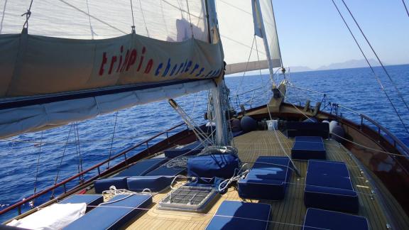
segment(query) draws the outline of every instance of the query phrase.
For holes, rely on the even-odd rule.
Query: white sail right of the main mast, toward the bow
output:
[[[217,0],[217,11],[227,74],[281,67],[271,0]]]

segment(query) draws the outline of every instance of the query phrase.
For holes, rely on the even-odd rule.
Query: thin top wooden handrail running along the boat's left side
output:
[[[72,177],[69,177],[69,178],[67,178],[65,180],[62,180],[62,182],[58,182],[57,184],[53,185],[52,187],[48,187],[48,189],[46,189],[46,190],[43,190],[41,192],[36,193],[35,195],[32,195],[31,197],[23,199],[20,202],[17,202],[15,204],[7,207],[6,209],[0,210],[0,215],[5,214],[6,212],[9,212],[9,211],[11,211],[13,209],[16,209],[18,207],[21,207],[21,205],[26,204],[27,202],[30,202],[31,200],[36,199],[36,198],[38,198],[38,197],[40,197],[40,196],[42,196],[42,195],[44,195],[44,194],[46,194],[46,193],[48,193],[48,192],[50,192],[52,190],[55,190],[56,188],[67,184],[67,182],[70,182],[71,180],[74,180],[77,177],[80,177],[80,176],[84,175],[85,173],[87,173],[87,172],[89,172],[91,170],[99,168],[102,165],[108,163],[109,161],[114,160],[116,158],[119,158],[121,155],[129,153],[131,150],[133,150],[135,148],[138,148],[139,146],[142,146],[142,145],[148,143],[149,141],[152,141],[153,139],[157,138],[158,136],[162,136],[163,134],[168,133],[169,131],[172,131],[173,129],[178,128],[178,127],[180,127],[180,126],[182,126],[184,124],[185,123],[178,124],[176,126],[173,126],[172,128],[167,129],[166,131],[163,131],[163,132],[160,132],[160,133],[156,134],[155,136],[151,136],[150,138],[146,139],[145,141],[142,141],[141,143],[138,143],[136,146],[132,146],[130,148],[127,148],[126,150],[122,151],[121,153],[118,153],[118,154],[114,155],[113,157],[111,157],[111,158],[109,158],[107,160],[104,160],[101,163],[98,163],[97,165],[92,166],[91,168],[88,168],[87,170],[83,170],[82,172],[77,173],[76,175],[73,175]]]

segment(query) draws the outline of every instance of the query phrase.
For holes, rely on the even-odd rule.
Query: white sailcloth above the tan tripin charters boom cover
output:
[[[0,1],[0,34],[20,33],[31,0]],[[28,33],[55,38],[115,38],[135,31],[168,41],[208,41],[205,0],[33,0]],[[132,19],[133,18],[133,19]],[[192,22],[192,24],[190,24]],[[192,25],[192,26],[190,26]]]

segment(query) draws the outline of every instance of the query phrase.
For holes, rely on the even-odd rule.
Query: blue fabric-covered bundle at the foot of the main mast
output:
[[[239,162],[239,158],[231,154],[200,155],[187,159],[187,175],[227,179],[239,170]]]

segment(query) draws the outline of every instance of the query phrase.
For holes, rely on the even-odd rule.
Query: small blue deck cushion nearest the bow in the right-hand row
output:
[[[291,158],[297,160],[325,160],[326,151],[320,136],[296,136]]]

